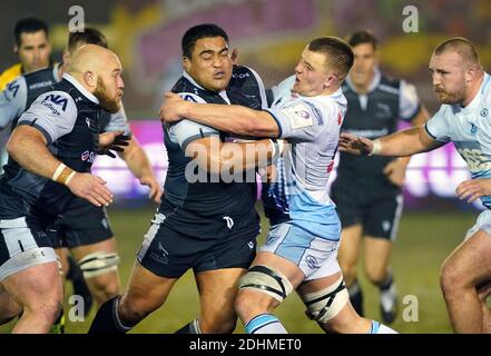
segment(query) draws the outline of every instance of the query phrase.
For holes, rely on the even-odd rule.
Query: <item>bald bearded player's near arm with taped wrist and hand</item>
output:
[[[112,202],[105,181],[90,174],[79,174],[65,166],[47,147],[45,135],[35,127],[18,126],[7,144],[9,155],[24,169],[66,185],[76,196],[96,206]]]

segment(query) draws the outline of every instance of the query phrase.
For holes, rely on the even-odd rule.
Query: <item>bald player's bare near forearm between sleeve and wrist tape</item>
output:
[[[24,169],[45,178],[51,178],[61,164],[49,151],[45,136],[28,126],[20,126],[12,132],[7,150]]]

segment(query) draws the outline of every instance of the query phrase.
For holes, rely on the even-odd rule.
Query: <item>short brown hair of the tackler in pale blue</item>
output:
[[[340,80],[343,80],[353,66],[354,55],[350,44],[337,37],[321,37],[308,43],[308,50],[320,52],[326,57],[327,67],[336,70]]]

